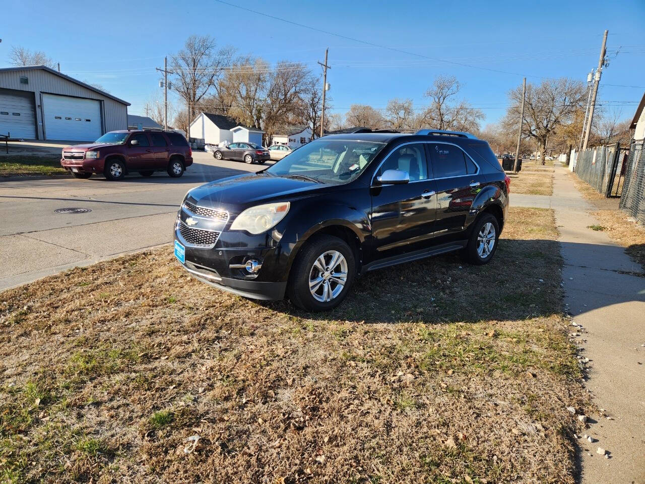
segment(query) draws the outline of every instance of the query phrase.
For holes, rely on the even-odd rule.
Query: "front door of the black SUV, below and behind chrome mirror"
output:
[[[437,196],[429,168],[423,143],[406,143],[395,148],[377,170],[375,177],[386,170],[406,171],[410,182],[370,188],[374,257],[397,256],[430,244]]]

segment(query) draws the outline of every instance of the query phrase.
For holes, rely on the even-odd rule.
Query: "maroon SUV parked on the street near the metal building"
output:
[[[192,156],[186,138],[174,131],[110,131],[94,143],[64,148],[61,165],[76,178],[97,173],[121,180],[130,172],[161,171],[180,177],[193,164]]]

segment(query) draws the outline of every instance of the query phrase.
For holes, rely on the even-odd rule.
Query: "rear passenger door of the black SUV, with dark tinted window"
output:
[[[436,236],[444,241],[463,238],[466,216],[486,179],[462,148],[447,142],[428,143],[437,182]]]

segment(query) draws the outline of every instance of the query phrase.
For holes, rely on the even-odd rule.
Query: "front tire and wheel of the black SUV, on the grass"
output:
[[[341,257],[337,258],[335,267],[323,273],[319,260],[324,259],[325,270],[337,254]],[[344,281],[342,276],[333,277],[333,274],[343,273]],[[350,292],[355,275],[356,262],[352,248],[338,237],[317,237],[308,242],[297,255],[289,274],[287,294],[293,305],[306,311],[332,310],[341,304]],[[311,283],[316,281],[317,285],[310,290]],[[339,281],[344,283],[341,285]],[[337,290],[338,288],[340,290]]]

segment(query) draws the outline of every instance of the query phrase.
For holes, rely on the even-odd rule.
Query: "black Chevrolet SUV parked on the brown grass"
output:
[[[175,223],[177,259],[214,287],[256,299],[286,292],[306,310],[336,307],[370,270],[453,250],[488,263],[510,188],[488,143],[361,131],[190,190]]]

